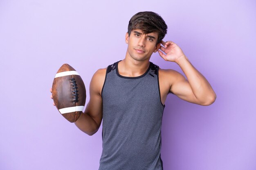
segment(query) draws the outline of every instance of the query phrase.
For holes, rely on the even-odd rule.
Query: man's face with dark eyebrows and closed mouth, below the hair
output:
[[[132,30],[130,36],[126,33],[127,54],[137,61],[149,60],[153,52],[157,52],[160,43],[156,44],[156,32],[144,34],[141,30]]]

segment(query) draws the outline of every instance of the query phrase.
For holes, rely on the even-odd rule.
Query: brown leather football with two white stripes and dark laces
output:
[[[83,112],[86,89],[81,76],[68,64],[63,64],[52,83],[52,97],[61,115],[76,122]]]

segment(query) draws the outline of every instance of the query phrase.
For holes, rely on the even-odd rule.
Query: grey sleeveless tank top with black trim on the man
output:
[[[121,61],[121,60],[120,60]],[[119,61],[108,65],[101,96],[102,154],[99,170],[163,170],[158,70],[150,62],[137,77],[122,76]]]

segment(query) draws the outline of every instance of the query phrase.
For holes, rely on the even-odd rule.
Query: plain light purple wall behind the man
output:
[[[256,2],[0,1],[0,169],[97,170],[99,131],[86,135],[52,106],[49,89],[69,63],[87,87],[124,59],[130,17],[159,13],[164,41],[178,44],[217,94],[210,106],[169,94],[162,123],[165,170],[256,169]],[[182,72],[158,53],[150,61]]]

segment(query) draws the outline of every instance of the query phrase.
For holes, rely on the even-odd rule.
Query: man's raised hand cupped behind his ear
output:
[[[166,55],[158,50],[159,55],[165,60],[165,61],[172,61],[176,62],[177,59],[184,56],[182,49],[175,44],[173,41],[161,41],[161,44],[164,46],[160,46],[160,50],[166,53]],[[176,62],[177,63],[177,62]]]

